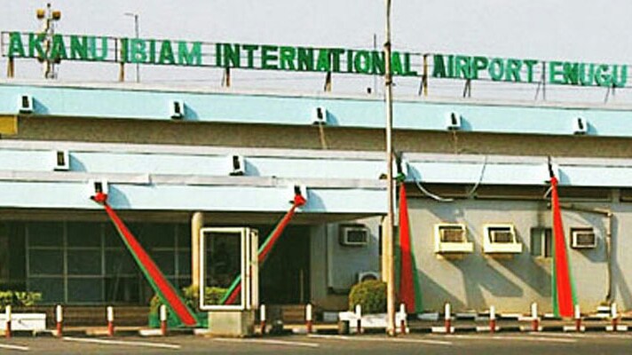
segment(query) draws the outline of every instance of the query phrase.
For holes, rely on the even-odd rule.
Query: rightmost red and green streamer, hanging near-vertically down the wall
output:
[[[557,177],[551,176],[551,209],[553,212],[553,260],[551,280],[553,314],[556,317],[573,317],[574,304],[577,304],[573,285],[570,260],[566,253],[564,225],[557,194]]]

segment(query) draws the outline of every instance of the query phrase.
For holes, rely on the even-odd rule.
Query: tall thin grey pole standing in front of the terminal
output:
[[[393,195],[393,145],[392,145],[392,75],[391,75],[391,0],[386,1],[386,38],[384,40],[384,89],[386,93],[386,194],[388,211],[386,213],[386,233],[384,233],[383,272],[386,275],[386,313],[388,322],[386,332],[395,336],[395,271],[393,263],[393,225],[395,224]]]

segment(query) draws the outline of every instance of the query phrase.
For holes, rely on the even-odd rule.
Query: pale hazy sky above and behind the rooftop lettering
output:
[[[46,2],[0,0],[0,29],[33,31],[36,8]],[[134,36],[138,13],[141,37],[229,43],[274,43],[372,49],[382,46],[383,0],[58,0],[62,12],[57,32],[101,36]],[[395,50],[443,52],[490,57],[569,60],[609,64],[632,63],[629,0],[392,0],[392,43]],[[1,74],[6,60],[0,59]],[[134,81],[129,66],[126,78]],[[140,68],[143,83],[219,87],[216,68]],[[632,75],[632,74],[631,74]],[[16,78],[41,77],[39,64],[22,59]],[[59,80],[112,82],[115,64],[62,63]],[[415,96],[418,78],[398,78],[396,94]],[[322,91],[320,73],[234,71],[233,87]],[[365,93],[381,78],[334,75],[333,91]],[[628,83],[632,87],[632,83]],[[473,98],[533,100],[537,85],[472,84]],[[430,82],[431,96],[460,97],[462,80]],[[628,92],[630,91],[630,92]],[[609,102],[632,102],[632,90],[608,93]],[[547,86],[548,100],[604,102],[606,89]],[[541,96],[539,97],[541,98]]]

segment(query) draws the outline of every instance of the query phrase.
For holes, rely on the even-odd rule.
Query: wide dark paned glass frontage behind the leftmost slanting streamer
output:
[[[26,275],[22,280],[27,280],[28,290],[42,292],[44,303],[138,304],[153,295],[112,224],[27,222],[23,225],[25,237],[21,245],[26,248],[21,249],[25,251],[21,265],[26,266]],[[180,287],[190,284],[188,225],[144,223],[132,224],[130,229],[167,279]],[[19,250],[12,254],[19,256]]]

